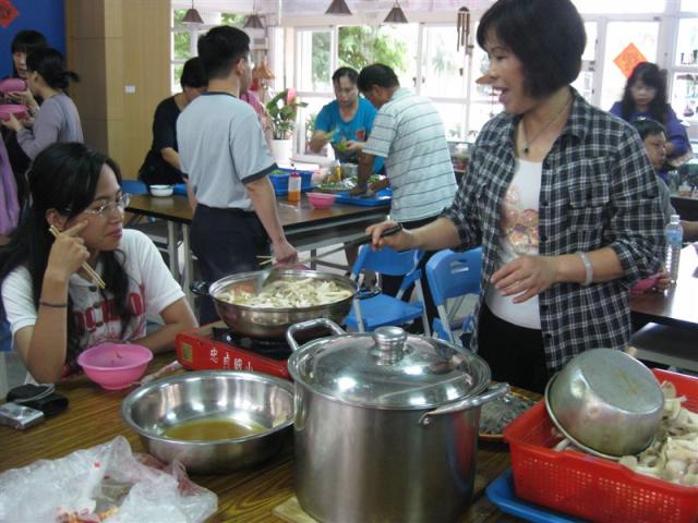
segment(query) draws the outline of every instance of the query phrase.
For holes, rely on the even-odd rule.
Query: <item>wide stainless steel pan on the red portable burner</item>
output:
[[[208,288],[208,294],[214,300],[214,305],[220,319],[238,335],[252,338],[284,339],[286,329],[299,321],[323,317],[336,323],[342,323],[347,314],[349,314],[351,301],[357,293],[357,283],[342,275],[303,269],[275,269],[274,280],[302,278],[329,280],[350,291],[351,295],[339,302],[326,305],[293,308],[249,307],[228,303],[217,297],[224,292],[234,291],[237,289],[253,291],[255,282],[262,273],[266,273],[266,271],[257,270],[227,276],[212,283]]]

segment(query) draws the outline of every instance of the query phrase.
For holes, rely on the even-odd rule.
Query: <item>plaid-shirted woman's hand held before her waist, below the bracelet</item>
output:
[[[490,282],[503,296],[517,294],[514,303],[522,303],[549,289],[557,281],[554,256],[521,256],[497,270]]]

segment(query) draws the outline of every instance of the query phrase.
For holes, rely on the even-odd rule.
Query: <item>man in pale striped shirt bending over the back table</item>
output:
[[[395,72],[381,63],[363,68],[358,85],[378,113],[359,158],[359,183],[352,194],[366,191],[371,167],[378,156],[385,158],[393,188],[390,218],[408,229],[435,220],[444,208],[450,206],[457,190],[438,111],[428,98],[401,88]],[[421,267],[431,254],[424,255]],[[384,277],[383,290],[397,293],[400,280]],[[431,321],[437,313],[425,278],[422,287]]]

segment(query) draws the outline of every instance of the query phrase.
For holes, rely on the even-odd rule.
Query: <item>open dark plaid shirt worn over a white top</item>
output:
[[[590,106],[573,89],[565,129],[543,160],[539,253],[556,256],[611,247],[624,275],[613,281],[563,282],[539,295],[547,369],[595,348],[624,349],[630,339],[628,289],[654,273],[663,253],[663,216],[657,180],[642,143],[622,120]],[[480,307],[498,258],[503,198],[515,169],[520,117],[501,113],[478,136],[468,172],[444,216],[462,245],[482,244],[480,301],[471,348],[477,351]],[[516,348],[512,348],[516,350]]]

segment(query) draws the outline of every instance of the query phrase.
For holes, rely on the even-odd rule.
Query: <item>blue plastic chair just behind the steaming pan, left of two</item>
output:
[[[363,270],[372,270],[380,275],[404,276],[404,279],[395,297],[383,293],[369,297],[356,297],[352,309],[345,319],[347,327],[365,332],[385,325],[405,325],[421,317],[424,331],[430,336],[424,295],[420,283],[422,272],[417,268],[423,255],[423,251],[416,250],[398,253],[387,247],[381,251],[373,251],[369,245],[361,247],[357,262],[351,268],[353,280],[358,280]],[[418,302],[404,302],[401,297],[412,284],[414,284]]]

